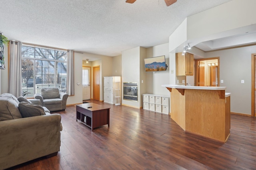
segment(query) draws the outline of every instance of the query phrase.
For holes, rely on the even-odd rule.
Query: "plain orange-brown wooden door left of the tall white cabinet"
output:
[[[93,67],[93,99],[100,101],[100,66]]]

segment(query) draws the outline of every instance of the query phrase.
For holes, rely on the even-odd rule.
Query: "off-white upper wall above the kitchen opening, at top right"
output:
[[[200,39],[202,42],[236,35],[239,32],[238,28],[256,23],[255,6],[255,0],[232,0],[189,16],[187,18],[188,40]]]

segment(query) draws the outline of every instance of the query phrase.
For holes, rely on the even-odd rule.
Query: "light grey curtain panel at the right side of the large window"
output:
[[[74,51],[68,51],[68,68],[67,68],[67,94],[74,95]]]

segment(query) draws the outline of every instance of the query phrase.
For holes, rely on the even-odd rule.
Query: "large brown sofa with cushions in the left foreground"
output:
[[[0,170],[60,151],[60,114],[42,106],[0,96]],[[31,116],[31,117],[28,117]]]

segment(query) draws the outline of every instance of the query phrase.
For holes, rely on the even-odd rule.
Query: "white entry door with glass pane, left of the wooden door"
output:
[[[83,100],[90,100],[90,96],[91,96],[90,75],[91,75],[91,68],[83,66],[83,69],[82,69]]]

